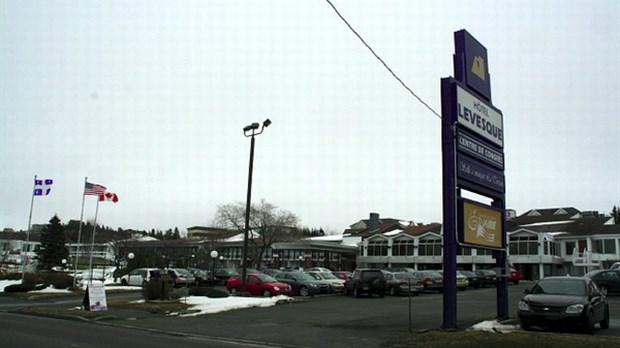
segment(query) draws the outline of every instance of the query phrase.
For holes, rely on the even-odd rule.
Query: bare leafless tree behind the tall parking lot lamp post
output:
[[[217,207],[214,222],[217,227],[245,230],[245,203],[236,202]],[[280,209],[262,199],[250,207],[250,230],[248,255],[254,267],[260,267],[266,250],[274,243],[297,240],[301,232],[297,228],[299,218],[292,212]]]

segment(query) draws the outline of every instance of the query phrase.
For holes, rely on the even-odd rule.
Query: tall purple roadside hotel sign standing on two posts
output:
[[[454,33],[454,76],[441,79],[443,163],[443,267],[444,328],[456,324],[456,269],[459,246],[491,249],[496,267],[506,266],[505,159],[502,112],[491,102],[487,50],[467,31]],[[488,197],[493,203],[471,202],[485,211],[497,211],[497,239],[464,238],[462,191]],[[497,242],[500,240],[501,242]],[[502,278],[497,286],[498,319],[508,318],[508,288]]]

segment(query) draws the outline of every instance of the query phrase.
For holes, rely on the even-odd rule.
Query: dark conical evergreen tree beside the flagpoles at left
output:
[[[41,269],[50,270],[62,266],[62,260],[69,259],[69,249],[65,246],[65,230],[57,215],[41,231],[41,247],[36,251]]]

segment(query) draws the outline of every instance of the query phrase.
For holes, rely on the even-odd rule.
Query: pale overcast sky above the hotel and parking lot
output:
[[[453,33],[488,51],[504,115],[507,207],[620,204],[619,2],[333,4],[440,113]],[[326,1],[0,2],[0,228],[79,219],[84,178],[113,228],[209,225],[254,202],[341,232],[370,212],[442,218],[440,119]],[[84,220],[95,216],[86,196]]]

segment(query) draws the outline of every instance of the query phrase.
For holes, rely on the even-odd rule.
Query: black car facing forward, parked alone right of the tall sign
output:
[[[521,327],[576,326],[594,333],[594,325],[609,328],[609,305],[592,279],[588,277],[546,277],[519,301]]]

